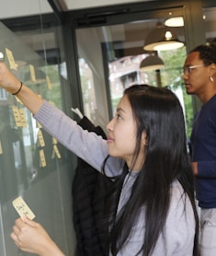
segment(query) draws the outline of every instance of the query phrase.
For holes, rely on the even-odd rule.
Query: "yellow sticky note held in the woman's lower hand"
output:
[[[31,211],[31,209],[28,207],[28,204],[22,199],[21,196],[17,197],[13,202],[13,206],[15,207],[17,214],[23,218],[24,215],[26,215],[29,219],[34,219],[35,215]]]

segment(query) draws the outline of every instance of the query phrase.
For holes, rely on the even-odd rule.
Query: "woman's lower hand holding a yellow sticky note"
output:
[[[63,256],[63,252],[52,241],[46,230],[27,217],[18,218],[10,235],[20,250],[40,256]]]

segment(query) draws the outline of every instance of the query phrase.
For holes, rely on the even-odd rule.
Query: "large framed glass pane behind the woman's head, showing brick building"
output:
[[[156,28],[159,21],[164,24],[165,18],[76,30],[85,114],[93,122],[101,124],[98,113],[102,113],[106,122],[112,118],[126,87],[141,83],[149,84],[155,87],[169,87],[176,93],[185,111],[189,136],[193,116],[192,103],[182,80],[182,66],[187,55],[186,46],[171,51],[143,50],[148,33]],[[184,42],[184,26],[172,29],[175,30],[178,40]],[[164,68],[142,72],[140,64],[150,55],[160,57],[165,63]],[[101,101],[97,98],[99,92],[100,98],[103,99],[104,93],[107,92],[106,100]],[[97,111],[94,112],[95,110]]]

